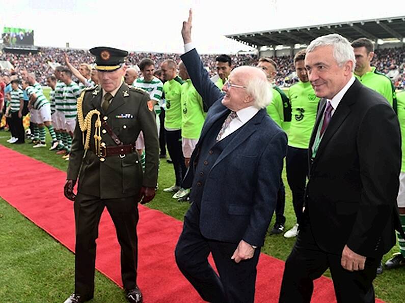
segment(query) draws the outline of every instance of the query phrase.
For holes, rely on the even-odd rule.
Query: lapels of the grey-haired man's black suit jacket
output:
[[[355,82],[352,84],[352,86],[350,86],[349,89],[347,90],[347,92],[344,94],[342,100],[340,100],[339,105],[336,108],[336,110],[331,118],[331,121],[330,121],[327,129],[325,130],[325,133],[323,134],[323,137],[319,143],[318,151],[316,152],[316,156],[315,156],[312,166],[315,166],[318,159],[321,157],[322,152],[325,149],[325,146],[328,144],[328,142],[331,140],[331,138],[335,135],[337,130],[343,124],[347,115],[350,113],[350,106],[356,101],[355,94],[357,93],[357,90],[360,86],[361,86],[361,83],[356,79]],[[323,106],[323,109],[325,109],[325,106]],[[317,119],[318,125],[319,125],[319,121],[321,119],[322,114],[323,114],[323,110],[318,115],[318,119]],[[312,136],[314,137],[315,135],[316,135],[316,131],[314,128],[314,131],[312,132]],[[312,145],[310,145],[310,146],[312,146]]]

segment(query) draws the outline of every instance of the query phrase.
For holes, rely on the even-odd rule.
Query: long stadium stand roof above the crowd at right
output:
[[[334,33],[340,34],[350,41],[361,37],[373,41],[388,38],[396,38],[402,41],[405,37],[405,16],[271,29],[261,32],[226,35],[226,37],[253,47],[260,47],[281,44],[309,44],[319,36]]]

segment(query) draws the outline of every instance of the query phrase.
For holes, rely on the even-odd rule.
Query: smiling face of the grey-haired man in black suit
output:
[[[319,46],[305,56],[308,78],[319,98],[332,99],[352,76],[352,61],[341,67],[333,56],[333,47]]]

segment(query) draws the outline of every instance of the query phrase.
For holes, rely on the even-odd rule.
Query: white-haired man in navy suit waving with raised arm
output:
[[[192,188],[176,262],[210,302],[253,302],[256,265],[280,187],[287,136],[266,114],[265,74],[232,71],[223,92],[191,44],[192,13],[183,22],[188,74],[209,107],[183,186]],[[212,254],[219,275],[208,263]]]

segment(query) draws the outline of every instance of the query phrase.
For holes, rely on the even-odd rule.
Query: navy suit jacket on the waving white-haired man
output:
[[[200,146],[214,122],[230,110],[222,105],[224,93],[209,79],[197,51],[193,49],[181,59],[209,108],[183,180],[183,186],[191,188],[194,163],[201,161]],[[230,243],[244,239],[251,245],[262,246],[276,206],[286,153],[286,134],[265,109],[259,110],[232,138],[206,176],[201,201],[198,201],[202,235]]]

